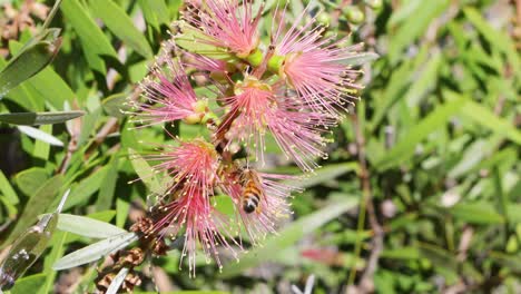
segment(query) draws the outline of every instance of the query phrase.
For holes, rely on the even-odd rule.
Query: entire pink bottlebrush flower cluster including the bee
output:
[[[252,2],[189,1],[140,85],[142,98],[131,101],[138,128],[179,120],[212,134],[190,140],[170,135],[174,145],[146,157],[167,178],[146,234],[179,239],[190,274],[198,246],[222,267],[219,252],[238,258],[244,239],[257,245],[276,233],[298,189],[285,184],[293,176],[256,170],[266,139],[303,171],[314,170],[327,156],[327,134],[360,89],[348,65],[360,46],[324,37],[315,19],[306,21],[307,9],[292,20],[287,9],[276,9],[277,24],[263,42],[263,8],[254,11]],[[217,209],[220,197],[232,199],[234,216]]]

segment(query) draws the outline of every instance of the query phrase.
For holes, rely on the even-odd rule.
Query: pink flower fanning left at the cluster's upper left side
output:
[[[183,119],[199,122],[207,110],[207,101],[198,99],[184,66],[173,58],[163,58],[140,85],[144,101],[130,101],[134,121],[144,126]]]

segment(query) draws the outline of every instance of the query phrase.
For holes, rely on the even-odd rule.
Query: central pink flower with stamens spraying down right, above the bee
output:
[[[265,136],[269,131],[289,158],[311,171],[317,167],[315,158],[326,156],[322,134],[335,121],[277,92],[279,89],[272,89],[253,76],[237,82],[235,96],[223,99],[230,110],[223,118],[217,139],[226,139],[228,144],[244,141],[263,161]]]

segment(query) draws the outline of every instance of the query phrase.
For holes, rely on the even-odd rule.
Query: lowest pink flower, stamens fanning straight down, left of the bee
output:
[[[188,185],[176,196],[174,200],[159,207],[164,214],[154,224],[154,231],[160,232],[160,235],[168,235],[171,239],[183,236],[179,270],[183,259],[188,256],[189,273],[190,276],[195,276],[198,245],[205,254],[206,262],[210,263],[214,258],[219,271],[223,268],[219,246],[238,261],[236,249],[242,251],[242,247],[232,238],[227,218],[215,210],[205,193],[199,190],[197,185]]]

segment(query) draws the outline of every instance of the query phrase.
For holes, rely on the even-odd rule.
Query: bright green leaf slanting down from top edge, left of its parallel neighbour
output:
[[[60,9],[67,20],[66,23],[70,23],[78,33],[89,67],[98,72],[106,74],[107,69],[102,57],[108,56],[117,59],[118,56],[110,41],[78,0],[63,1]]]

